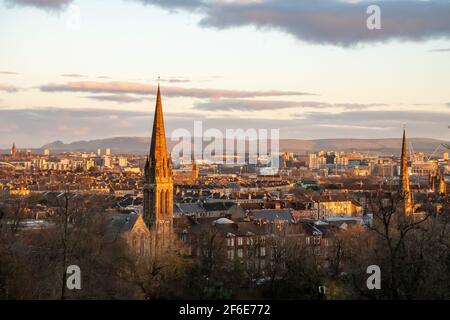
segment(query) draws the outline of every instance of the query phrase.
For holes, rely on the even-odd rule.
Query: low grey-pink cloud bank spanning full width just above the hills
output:
[[[173,130],[193,131],[194,120],[202,120],[203,130],[279,129],[283,138],[392,138],[401,135],[403,124],[408,136],[448,140],[450,112],[348,111],[337,114],[311,112],[292,119],[254,117],[205,118],[195,113],[164,114],[168,136]],[[39,147],[54,140],[74,141],[113,136],[149,136],[153,113],[117,110],[36,107],[0,108],[0,144],[15,141]],[[36,133],[39,134],[36,134]]]

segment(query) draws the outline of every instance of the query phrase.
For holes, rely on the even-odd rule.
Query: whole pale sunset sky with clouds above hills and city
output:
[[[158,77],[169,136],[450,140],[450,1],[0,0],[0,148],[149,136]]]

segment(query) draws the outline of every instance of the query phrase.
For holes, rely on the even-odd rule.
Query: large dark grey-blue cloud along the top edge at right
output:
[[[351,46],[390,39],[450,37],[450,2],[443,0],[136,1],[169,10],[197,9],[203,14],[203,27],[255,26],[312,43]],[[366,27],[366,10],[371,4],[381,9],[381,30]]]

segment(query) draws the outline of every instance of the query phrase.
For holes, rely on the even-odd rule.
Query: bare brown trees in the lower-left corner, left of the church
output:
[[[127,252],[107,236],[105,199],[65,194],[45,223],[23,225],[24,212],[38,203],[33,198],[12,198],[0,208],[0,298],[134,296],[134,288],[118,276]],[[67,289],[70,265],[81,269],[82,290]]]

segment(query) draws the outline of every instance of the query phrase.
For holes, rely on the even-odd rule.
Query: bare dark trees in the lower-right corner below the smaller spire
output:
[[[448,203],[435,214],[429,204],[418,214],[399,211],[402,199],[375,198],[373,225],[347,246],[351,297],[371,299],[449,299],[450,234]],[[381,290],[368,290],[367,266],[381,269]]]

